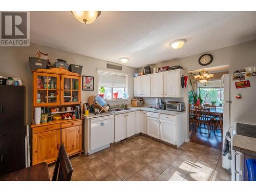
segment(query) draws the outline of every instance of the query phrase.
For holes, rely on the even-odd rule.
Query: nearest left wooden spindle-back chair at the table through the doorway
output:
[[[210,134],[210,130],[212,129],[212,119],[209,117],[210,109],[203,109],[203,108],[196,108],[197,114],[197,127],[196,132],[198,129],[198,125],[204,123],[207,125],[208,134]]]

